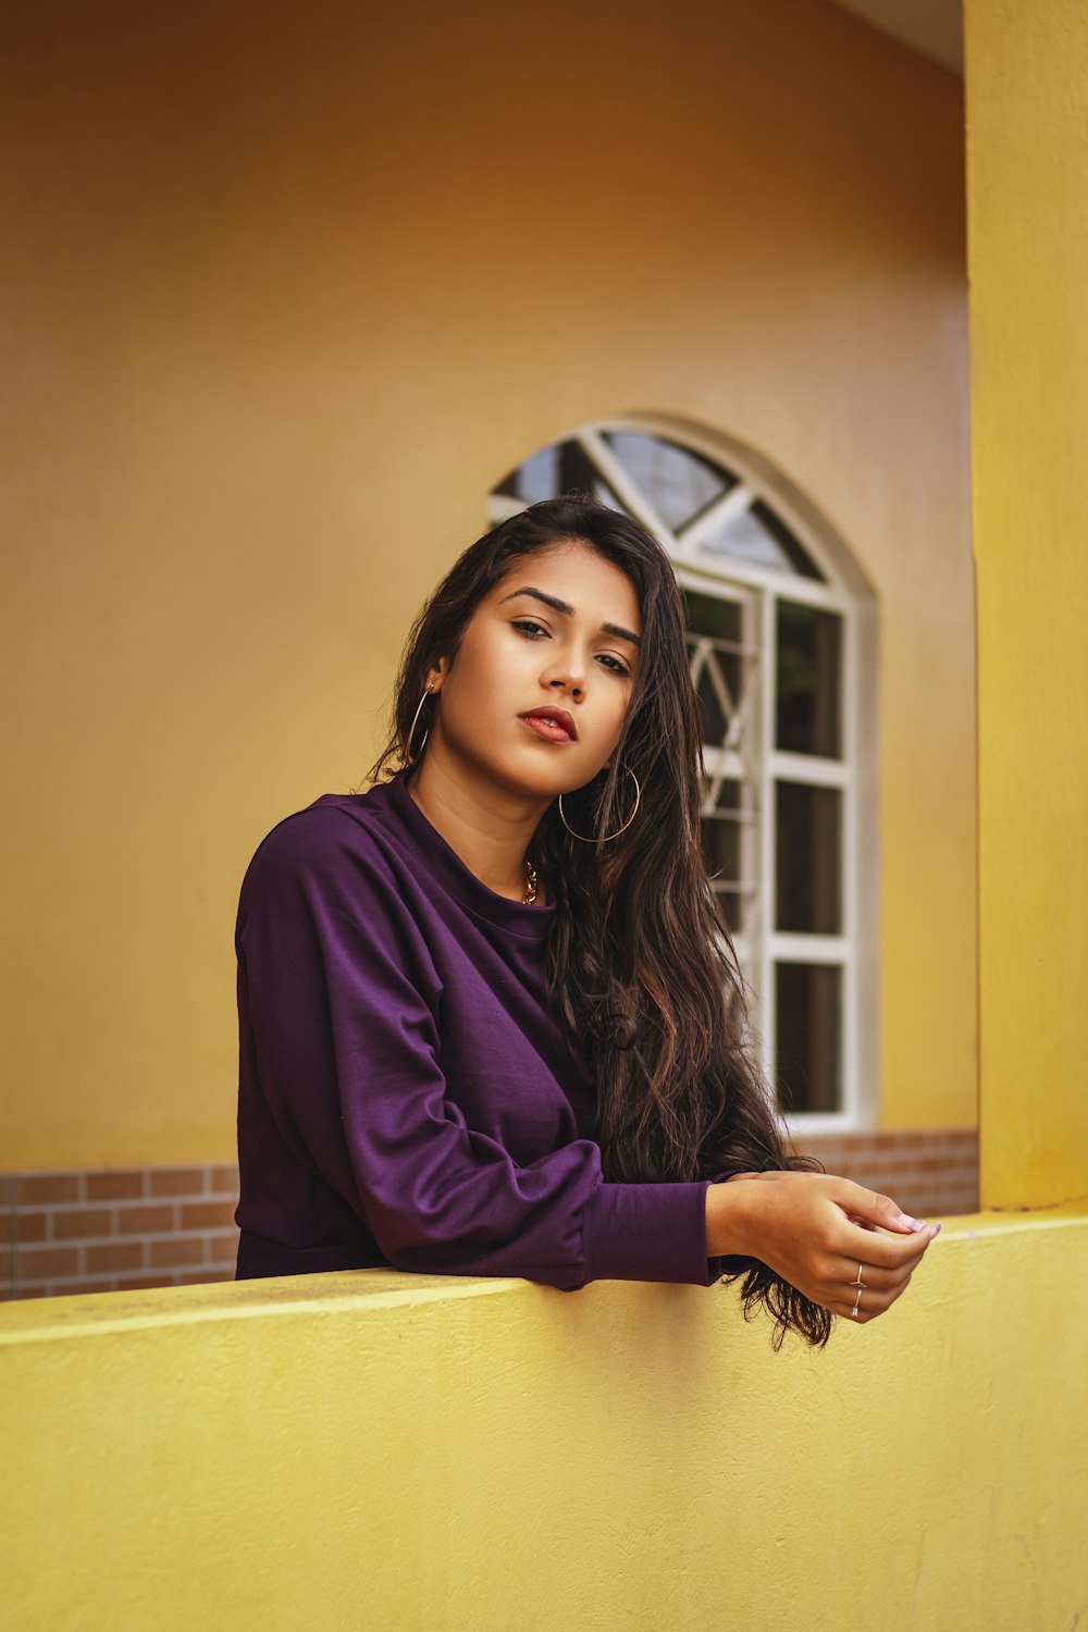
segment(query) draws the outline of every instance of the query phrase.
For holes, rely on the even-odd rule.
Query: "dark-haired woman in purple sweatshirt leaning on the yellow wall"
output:
[[[241,889],[238,1276],[744,1276],[776,1343],[891,1307],[940,1226],[785,1149],[657,542],[566,496],[471,545],[370,775]]]

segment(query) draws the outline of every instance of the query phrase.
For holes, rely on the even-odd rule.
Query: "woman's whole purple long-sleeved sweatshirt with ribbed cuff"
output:
[[[238,909],[238,1278],[375,1268],[710,1284],[708,1182],[600,1172],[553,1018],[555,907],[481,885],[405,772],[259,845]]]

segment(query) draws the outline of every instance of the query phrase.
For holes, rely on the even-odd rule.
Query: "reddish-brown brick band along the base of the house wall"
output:
[[[825,1134],[801,1149],[918,1217],[979,1204],[974,1128]],[[3,1173],[0,1301],[228,1281],[237,1203],[232,1164]]]

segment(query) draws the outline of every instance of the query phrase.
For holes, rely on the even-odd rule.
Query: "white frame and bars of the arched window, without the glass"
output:
[[[656,436],[690,449],[724,467],[736,478],[721,499],[692,524],[682,539],[666,526],[605,441],[607,432]],[[879,826],[876,806],[878,698],[876,698],[876,596],[851,552],[830,522],[780,470],[731,436],[708,431],[687,419],[661,415],[625,415],[595,419],[555,442],[579,442],[620,503],[652,532],[669,552],[683,589],[741,599],[742,645],[759,650],[755,707],[760,730],[750,743],[755,772],[759,855],[742,836],[742,875],[749,862],[759,889],[755,911],[734,934],[737,958],[755,991],[754,1028],[762,1046],[763,1069],[775,1072],[775,966],[778,963],[830,963],[842,969],[842,1102],[837,1111],[786,1116],[789,1133],[847,1133],[876,1124],[879,1071]],[[527,455],[532,457],[532,455]],[[824,574],[824,581],[765,568],[728,555],[700,553],[700,540],[723,521],[762,499]],[[491,494],[488,519],[494,526],[524,509],[525,501]],[[775,641],[776,604],[835,612],[842,620],[842,759],[783,752],[775,743]],[[708,772],[744,780],[732,749],[708,752]],[[775,782],[834,787],[842,793],[840,876],[842,934],[785,934],[775,929]]]

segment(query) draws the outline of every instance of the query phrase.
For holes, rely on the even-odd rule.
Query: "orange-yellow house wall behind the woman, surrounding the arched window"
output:
[[[961,86],[812,0],[8,8],[5,1167],[233,1154],[232,930],[486,490],[721,428],[879,597],[881,1093],[974,1116]]]

